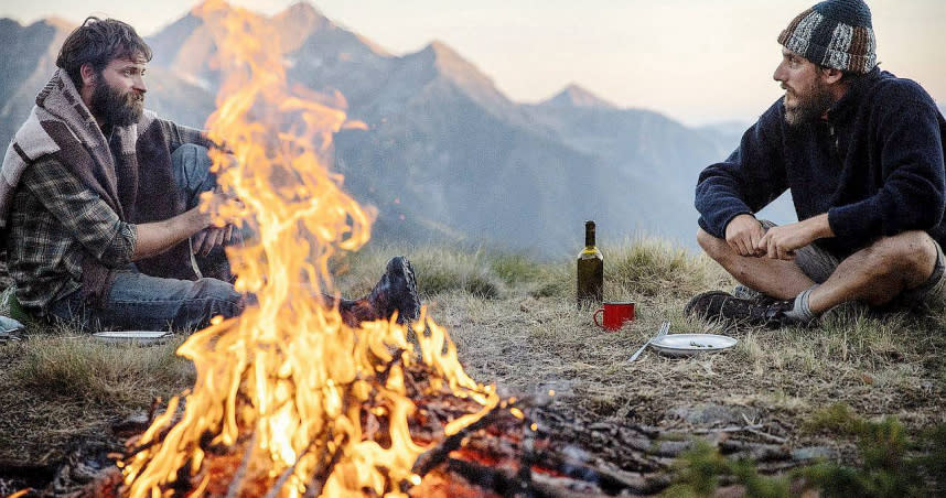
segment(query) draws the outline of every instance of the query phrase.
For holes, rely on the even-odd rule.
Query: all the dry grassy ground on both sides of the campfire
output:
[[[946,441],[946,314],[878,318],[840,311],[815,329],[725,331],[739,339],[727,353],[668,358],[648,350],[627,364],[663,321],[673,323],[671,333],[721,332],[688,321],[682,307],[690,295],[733,282],[705,257],[654,240],[602,251],[605,297],[637,303],[637,318],[616,333],[598,328],[593,310],[576,307],[570,259],[381,247],[340,258],[336,272],[343,293],[359,295],[389,256],[406,253],[430,314],[450,331],[467,374],[510,394],[553,389],[549,409],[566,418],[699,437],[732,426],[754,431],[798,455],[827,457],[814,465],[808,456],[804,475],[829,496],[942,490],[942,462],[931,458],[943,456],[944,445],[931,441]],[[183,338],[140,347],[105,345],[67,329],[30,332],[24,340],[0,344],[0,477],[9,477],[2,472],[11,462],[54,467],[77,444],[120,448],[117,422],[193,382],[192,367],[173,356]],[[872,444],[895,451],[881,451],[886,457],[878,461]],[[675,496],[732,483],[756,496],[782,496],[793,481],[760,477],[751,464],[710,446],[696,446],[674,468],[667,491]],[[831,491],[829,483],[847,487]],[[11,484],[0,478],[0,492],[11,490],[4,485]]]

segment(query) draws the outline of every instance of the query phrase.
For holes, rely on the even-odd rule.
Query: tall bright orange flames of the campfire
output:
[[[278,33],[247,11],[212,0],[195,12],[219,48],[225,83],[207,128],[233,156],[215,154],[219,182],[241,204],[222,217],[246,220],[252,245],[230,248],[237,289],[259,305],[239,318],[215,320],[181,346],[196,383],[155,419],[120,463],[132,497],[404,496],[427,447],[415,442],[406,371],[420,357],[427,389],[449,388],[480,410],[445,426],[450,435],[496,405],[491,387],[469,378],[447,333],[422,314],[408,329],[394,322],[347,327],[316,297],[335,292],[335,248],[368,239],[370,216],[327,171],[332,133],[345,113],[290,91]],[[305,295],[312,295],[305,299]],[[180,415],[180,416],[179,416]],[[429,443],[428,443],[429,444]],[[223,491],[221,481],[225,481]]]

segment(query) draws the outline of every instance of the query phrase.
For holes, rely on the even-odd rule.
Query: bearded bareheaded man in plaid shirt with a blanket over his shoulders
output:
[[[226,201],[209,171],[214,144],[144,110],[150,59],[133,28],[88,18],[7,150],[0,228],[15,297],[34,317],[194,331],[252,302],[234,289],[223,255],[230,227],[213,226],[197,206],[207,192],[212,206]],[[356,324],[413,320],[419,304],[410,263],[398,257],[367,299],[338,306]]]

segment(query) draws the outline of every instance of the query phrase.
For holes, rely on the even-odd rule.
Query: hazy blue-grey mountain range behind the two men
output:
[[[393,55],[307,2],[260,20],[282,35],[291,85],[343,95],[350,118],[367,124],[336,133],[335,166],[377,208],[374,236],[385,241],[559,255],[577,251],[594,219],[604,243],[643,234],[692,247],[697,175],[748,127],[689,128],[578,85],[515,102],[445,43]],[[0,139],[28,115],[72,28],[0,20]],[[204,21],[187,13],[147,40],[147,106],[201,127],[221,80]],[[782,223],[794,216],[784,201],[773,210]]]

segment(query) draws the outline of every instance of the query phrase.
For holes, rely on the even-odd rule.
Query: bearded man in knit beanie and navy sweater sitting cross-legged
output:
[[[878,67],[862,0],[817,3],[777,40],[784,97],[696,190],[700,247],[741,285],[686,313],[778,327],[847,302],[946,305],[946,120],[933,99]],[[755,218],[786,190],[800,221]]]

